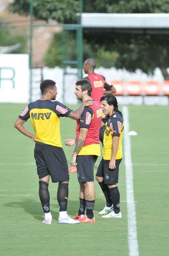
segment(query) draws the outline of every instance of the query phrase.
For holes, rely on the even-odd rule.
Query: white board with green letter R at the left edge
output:
[[[29,55],[0,54],[0,102],[29,101]]]

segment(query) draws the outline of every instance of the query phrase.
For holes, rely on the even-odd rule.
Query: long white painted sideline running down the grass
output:
[[[127,199],[127,222],[128,222],[128,244],[129,256],[138,256],[136,210],[133,189],[133,169],[131,162],[131,145],[129,136],[129,112],[123,107],[124,116],[124,159],[126,169],[126,199]]]

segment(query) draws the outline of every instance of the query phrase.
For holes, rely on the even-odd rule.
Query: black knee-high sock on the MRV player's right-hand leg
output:
[[[61,182],[58,186],[57,199],[60,206],[60,212],[67,211],[67,200],[68,200],[68,183]]]

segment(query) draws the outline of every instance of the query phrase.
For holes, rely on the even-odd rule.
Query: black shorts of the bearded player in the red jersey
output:
[[[83,155],[76,157],[77,178],[79,182],[94,181],[94,165],[97,160],[95,155]]]

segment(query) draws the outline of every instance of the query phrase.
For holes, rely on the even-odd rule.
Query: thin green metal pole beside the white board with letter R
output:
[[[30,101],[32,101],[32,37],[33,37],[33,0],[30,1],[30,38],[29,38],[29,68],[30,68]]]

